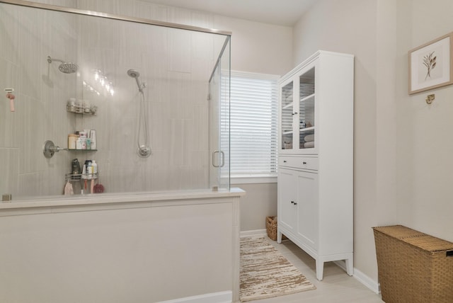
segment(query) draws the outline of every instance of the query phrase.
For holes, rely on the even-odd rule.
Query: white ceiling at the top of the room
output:
[[[316,0],[147,0],[250,21],[292,26]]]

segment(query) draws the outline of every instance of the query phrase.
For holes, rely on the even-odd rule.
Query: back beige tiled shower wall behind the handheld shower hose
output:
[[[122,15],[137,12],[135,16],[171,22],[190,23],[193,18],[195,25],[212,24],[209,16],[203,21],[200,14],[142,1],[79,1],[79,8]],[[83,80],[94,83],[89,71],[100,69],[115,86],[114,96],[84,91],[82,98],[97,105],[98,114],[78,118],[76,128],[96,129],[98,151],[78,154],[79,161],[96,160],[100,181],[110,193],[207,188],[207,87],[217,60],[213,50],[218,48],[212,35],[101,18],[83,18],[79,33],[79,62],[86,71]],[[144,93],[152,150],[147,159],[137,156],[142,96],[134,79],[127,76],[128,69],[139,71],[140,81],[147,83]]]

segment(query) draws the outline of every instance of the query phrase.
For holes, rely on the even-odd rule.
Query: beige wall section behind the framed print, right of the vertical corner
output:
[[[453,86],[408,96],[406,74],[408,50],[453,31],[453,3],[398,1],[397,18],[398,219],[453,241]],[[429,93],[435,93],[432,105],[425,103]]]

